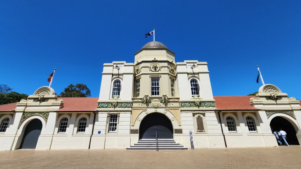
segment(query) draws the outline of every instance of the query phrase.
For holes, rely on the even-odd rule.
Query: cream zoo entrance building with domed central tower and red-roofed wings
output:
[[[213,96],[207,62],[175,62],[152,41],[134,63],[104,63],[99,98],[58,98],[43,86],[1,105],[0,150],[268,147],[278,146],[275,128],[299,145],[300,109],[272,84],[256,96]]]

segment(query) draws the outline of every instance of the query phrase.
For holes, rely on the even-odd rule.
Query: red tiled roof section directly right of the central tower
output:
[[[255,96],[213,96],[216,110],[259,110],[250,105]]]

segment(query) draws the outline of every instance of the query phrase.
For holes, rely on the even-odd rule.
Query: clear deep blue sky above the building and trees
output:
[[[0,84],[32,95],[84,83],[98,97],[103,63],[134,62],[152,40],[176,62],[208,62],[213,95],[265,83],[301,99],[301,1],[1,1]]]

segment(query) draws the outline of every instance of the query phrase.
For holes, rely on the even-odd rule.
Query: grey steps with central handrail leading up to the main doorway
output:
[[[156,140],[139,140],[126,149],[157,149]],[[175,143],[175,140],[158,140],[158,149],[187,149],[181,144]]]

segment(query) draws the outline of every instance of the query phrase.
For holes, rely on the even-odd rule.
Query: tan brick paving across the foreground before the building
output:
[[[301,168],[301,146],[194,150],[72,149],[0,152],[5,169]]]

